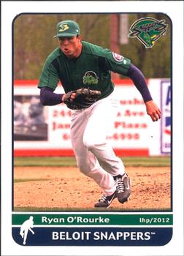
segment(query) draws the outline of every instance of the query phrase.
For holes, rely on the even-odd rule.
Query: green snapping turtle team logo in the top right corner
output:
[[[152,48],[162,35],[166,34],[166,20],[156,20],[155,18],[140,18],[131,25],[131,33],[128,37],[137,37],[145,48]]]

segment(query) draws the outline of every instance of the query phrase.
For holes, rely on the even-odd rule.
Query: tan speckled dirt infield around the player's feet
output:
[[[115,199],[111,209],[159,210],[171,208],[169,167],[127,167],[131,197],[123,205]],[[101,189],[76,167],[15,167],[14,207],[93,208]]]

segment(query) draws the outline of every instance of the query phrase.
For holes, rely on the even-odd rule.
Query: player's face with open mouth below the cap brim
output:
[[[58,42],[62,52],[69,59],[77,58],[78,56],[80,56],[81,49],[82,49],[80,36],[59,37]]]

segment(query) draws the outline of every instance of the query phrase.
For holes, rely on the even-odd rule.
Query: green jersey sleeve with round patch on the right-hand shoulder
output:
[[[105,66],[107,69],[120,75],[127,75],[131,65],[130,59],[108,49],[104,49],[103,56],[105,58]]]

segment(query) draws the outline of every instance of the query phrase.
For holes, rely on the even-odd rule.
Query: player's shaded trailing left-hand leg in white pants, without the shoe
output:
[[[71,141],[77,159],[77,166],[85,176],[96,181],[107,197],[111,197],[112,194],[115,195],[114,179],[99,165],[96,157],[83,144],[83,133],[87,124],[88,117],[84,110],[74,110],[72,112]]]

